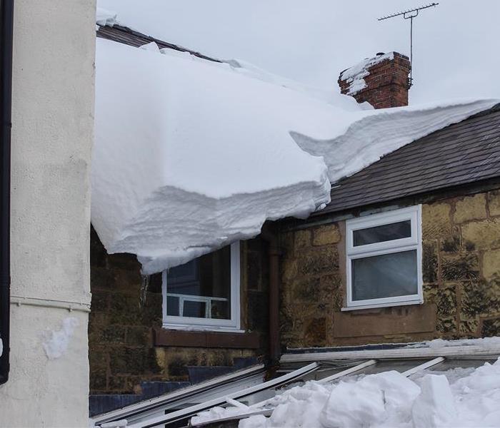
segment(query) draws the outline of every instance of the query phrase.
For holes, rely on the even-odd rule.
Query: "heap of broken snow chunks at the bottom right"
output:
[[[239,428],[499,427],[500,359],[463,369],[461,377],[457,369],[452,371],[449,378],[425,372],[409,379],[390,371],[344,377],[334,384],[311,381],[286,389],[261,407],[216,407],[191,422],[271,407],[271,417],[242,419]]]

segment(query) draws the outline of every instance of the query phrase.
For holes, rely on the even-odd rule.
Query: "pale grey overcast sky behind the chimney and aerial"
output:
[[[339,71],[379,51],[409,54],[409,21],[376,18],[419,0],[99,0],[159,39],[240,58],[338,91]],[[500,0],[441,0],[414,21],[411,103],[500,98]]]

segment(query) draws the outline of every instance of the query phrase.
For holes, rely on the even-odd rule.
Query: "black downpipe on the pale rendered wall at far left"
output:
[[[11,101],[14,0],[0,0],[0,384],[9,380],[11,314]]]

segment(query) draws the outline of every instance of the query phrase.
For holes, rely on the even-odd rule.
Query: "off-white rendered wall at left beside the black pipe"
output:
[[[77,310],[11,305],[0,427],[88,426],[94,46],[95,0],[15,1],[11,294]]]

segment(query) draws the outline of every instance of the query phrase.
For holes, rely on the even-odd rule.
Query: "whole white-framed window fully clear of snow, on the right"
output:
[[[421,208],[346,221],[347,307],[422,302]]]

